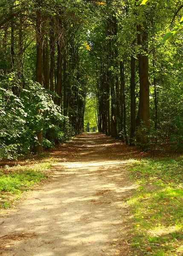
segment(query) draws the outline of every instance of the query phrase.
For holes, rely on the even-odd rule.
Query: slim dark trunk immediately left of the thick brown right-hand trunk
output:
[[[136,102],[135,102],[135,58],[131,55],[131,84],[130,84],[130,95],[131,95],[131,130],[130,130],[130,146],[134,146],[134,137],[136,130]]]

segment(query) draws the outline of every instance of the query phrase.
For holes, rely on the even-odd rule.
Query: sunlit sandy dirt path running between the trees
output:
[[[131,255],[125,200],[135,186],[127,178],[120,143],[82,134],[64,150],[69,155],[57,155],[51,182],[0,219],[0,255]]]

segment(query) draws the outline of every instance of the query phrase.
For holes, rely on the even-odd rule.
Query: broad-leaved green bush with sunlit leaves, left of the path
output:
[[[69,139],[73,129],[53,93],[39,83],[18,80],[14,73],[0,76],[0,159],[17,158],[32,151],[43,134],[43,147]]]

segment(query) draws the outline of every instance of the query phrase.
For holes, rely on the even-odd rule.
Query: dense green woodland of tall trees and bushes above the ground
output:
[[[143,150],[181,150],[182,15],[177,0],[1,0],[0,158],[88,122]]]

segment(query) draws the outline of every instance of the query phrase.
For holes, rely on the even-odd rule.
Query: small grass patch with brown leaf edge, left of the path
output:
[[[32,190],[49,177],[52,159],[26,160],[23,166],[4,166],[0,169],[0,209],[14,205],[24,191]]]

